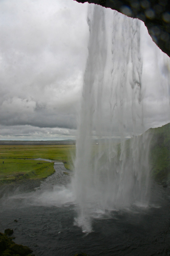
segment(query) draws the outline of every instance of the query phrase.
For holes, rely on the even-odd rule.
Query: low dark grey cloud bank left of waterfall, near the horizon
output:
[[[32,125],[38,127],[63,127],[76,129],[76,103],[53,109],[46,103],[39,104],[26,99],[6,100],[0,109],[3,125]]]

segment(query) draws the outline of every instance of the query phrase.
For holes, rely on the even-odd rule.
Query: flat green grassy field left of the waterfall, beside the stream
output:
[[[34,158],[63,162],[71,169],[74,156],[74,145],[0,145],[0,184],[43,179],[55,172],[54,163]]]

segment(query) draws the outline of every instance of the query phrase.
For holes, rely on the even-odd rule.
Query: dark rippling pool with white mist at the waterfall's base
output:
[[[75,224],[78,205],[70,177],[63,166],[55,170],[34,192],[1,198],[0,232],[12,228],[14,242],[36,256],[170,255],[170,188],[153,184],[148,208],[98,212],[87,234]]]

